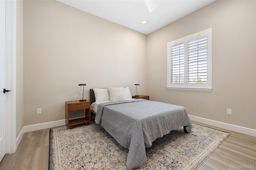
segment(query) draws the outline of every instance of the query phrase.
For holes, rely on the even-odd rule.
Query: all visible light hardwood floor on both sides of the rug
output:
[[[256,170],[256,137],[221,128],[216,129],[231,134],[198,170]],[[49,128],[27,132],[24,134],[16,152],[4,156],[0,162],[0,170],[47,170],[48,153]],[[251,168],[246,166],[251,166]]]

